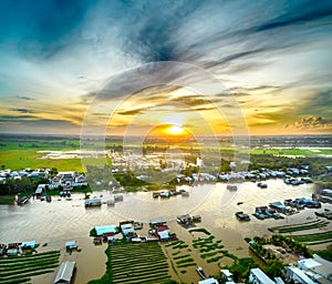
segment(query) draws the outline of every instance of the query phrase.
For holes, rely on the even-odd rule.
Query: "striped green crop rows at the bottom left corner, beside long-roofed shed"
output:
[[[59,251],[0,258],[0,284],[27,283],[59,266]]]

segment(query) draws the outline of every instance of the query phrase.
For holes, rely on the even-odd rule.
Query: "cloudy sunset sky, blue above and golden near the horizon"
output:
[[[331,50],[330,0],[1,0],[0,132],[331,134]]]

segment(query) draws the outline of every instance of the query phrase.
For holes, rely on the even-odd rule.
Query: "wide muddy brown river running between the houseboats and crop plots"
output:
[[[308,222],[309,219],[315,217],[314,210],[303,210],[284,220],[260,221],[252,216],[249,223],[238,222],[235,217],[237,211],[251,215],[256,206],[284,199],[310,197],[313,191],[312,184],[291,186],[281,180],[270,180],[267,183],[268,189],[259,189],[255,183],[246,182],[238,184],[236,192],[229,192],[226,184],[221,183],[184,186],[189,191],[189,196],[178,195],[170,199],[154,200],[152,193],[147,192],[128,193],[124,194],[124,201],[115,206],[103,204],[96,209],[84,207],[83,194],[73,194],[70,201],[53,197],[51,203],[32,200],[24,206],[0,205],[0,241],[8,243],[35,240],[41,244],[39,251],[61,250],[61,261],[72,260],[77,263],[75,283],[86,283],[89,280],[101,277],[105,272],[106,246],[92,244],[89,236],[92,227],[118,224],[126,219],[148,222],[153,217],[164,216],[179,239],[190,243],[193,236],[175,222],[176,215],[190,213],[203,216],[199,226],[206,227],[216,239],[221,239],[226,250],[240,257],[248,256],[248,246],[243,237],[268,235],[269,226]],[[103,201],[111,197],[108,192],[95,192],[94,195],[103,195]],[[237,205],[238,202],[243,203]],[[331,209],[331,205],[323,206]],[[328,230],[331,230],[331,224]],[[146,234],[145,225],[141,235]],[[72,255],[65,253],[64,243],[70,240],[76,240],[82,251]],[[42,247],[44,243],[48,245]],[[196,263],[200,264],[199,256],[195,258]],[[210,264],[207,273],[212,274],[217,268],[216,264]],[[54,276],[55,273],[38,276],[33,278],[33,283],[52,283]],[[180,278],[189,283],[190,280],[198,280],[194,268]]]

